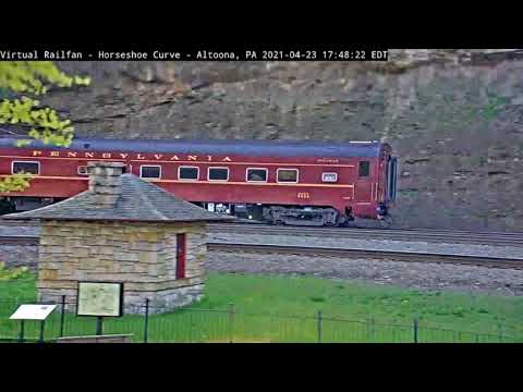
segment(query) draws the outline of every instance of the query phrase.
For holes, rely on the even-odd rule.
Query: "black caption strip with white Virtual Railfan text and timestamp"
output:
[[[388,49],[357,45],[2,45],[0,61],[387,61]]]

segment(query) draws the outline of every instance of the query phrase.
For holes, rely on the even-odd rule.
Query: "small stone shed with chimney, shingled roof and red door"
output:
[[[76,303],[78,281],[123,282],[124,311],[162,313],[198,301],[204,287],[209,212],[133,174],[123,163],[89,162],[89,189],[37,210],[38,299]]]

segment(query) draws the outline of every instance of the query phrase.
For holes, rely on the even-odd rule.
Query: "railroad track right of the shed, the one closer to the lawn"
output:
[[[323,248],[308,246],[282,246],[282,245],[253,245],[209,242],[208,250],[221,253],[243,253],[257,255],[294,255],[308,257],[339,257],[352,259],[379,259],[390,261],[409,262],[436,262],[451,265],[467,265],[487,268],[523,269],[523,259],[510,259],[498,257],[446,255],[434,253],[391,252],[370,249],[345,249]]]

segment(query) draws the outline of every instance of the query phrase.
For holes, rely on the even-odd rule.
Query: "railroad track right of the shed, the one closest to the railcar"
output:
[[[353,229],[272,226],[267,224],[211,223],[210,233],[292,235],[354,240],[388,240],[523,247],[523,233],[467,232],[451,230]]]

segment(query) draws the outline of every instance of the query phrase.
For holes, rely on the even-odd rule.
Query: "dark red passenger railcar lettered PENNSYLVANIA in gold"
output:
[[[382,219],[396,197],[396,158],[379,142],[75,139],[68,148],[0,138],[0,175],[34,174],[24,192],[0,193],[27,210],[87,189],[88,161],[126,172],[209,210],[272,223],[343,225]],[[144,207],[145,208],[145,207]]]

